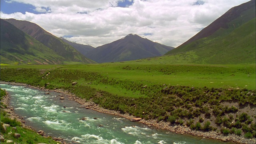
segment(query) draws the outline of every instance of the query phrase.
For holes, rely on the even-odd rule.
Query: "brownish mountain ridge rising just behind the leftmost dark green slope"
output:
[[[10,22],[18,29],[22,30],[26,34],[29,34],[48,48],[52,49],[54,52],[64,57],[67,61],[72,62],[82,62],[82,63],[95,63],[94,61],[86,58],[75,48],[62,41],[60,38],[50,34],[37,24],[28,22],[25,20],[15,20],[15,19],[4,19]]]

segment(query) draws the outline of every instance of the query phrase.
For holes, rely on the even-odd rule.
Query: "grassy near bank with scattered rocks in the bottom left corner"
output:
[[[1,141],[1,144],[7,144],[7,140],[12,140],[12,143],[22,143],[22,144],[34,144],[34,143],[50,143],[57,144],[50,137],[45,138],[34,132],[33,130],[29,130],[27,128],[23,128],[21,123],[16,119],[9,118],[9,114],[5,112],[2,108],[6,108],[6,106],[2,103],[2,97],[6,95],[5,90],[1,89],[1,108],[0,108],[0,134],[4,137],[4,142]],[[3,124],[9,124],[10,126],[4,128]],[[15,138],[14,134],[20,134],[19,138]]]

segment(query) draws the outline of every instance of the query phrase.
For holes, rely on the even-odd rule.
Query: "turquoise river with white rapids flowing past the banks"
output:
[[[25,124],[52,137],[81,144],[220,144],[217,140],[148,128],[139,122],[79,108],[72,100],[59,100],[59,93],[1,84],[9,92],[10,106]]]

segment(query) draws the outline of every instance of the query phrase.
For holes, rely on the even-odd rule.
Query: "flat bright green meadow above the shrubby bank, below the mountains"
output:
[[[1,65],[1,68],[68,69],[98,72],[117,80],[143,84],[170,84],[194,87],[248,88],[255,90],[255,64],[199,65],[116,62],[90,65]],[[80,82],[88,83],[88,82]],[[104,88],[103,88],[104,89]]]

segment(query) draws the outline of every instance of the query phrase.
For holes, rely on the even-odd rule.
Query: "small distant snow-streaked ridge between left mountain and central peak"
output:
[[[69,44],[70,46],[73,46],[76,50],[78,50],[78,52],[80,52],[82,55],[86,56],[86,54],[93,50],[94,47],[90,46],[88,44],[78,44],[76,42],[70,42],[68,40],[66,40],[65,38],[60,37],[61,40],[63,40],[64,42],[66,42],[67,44]]]

